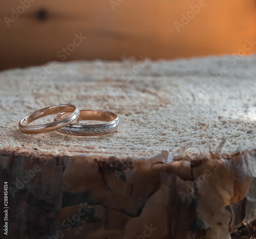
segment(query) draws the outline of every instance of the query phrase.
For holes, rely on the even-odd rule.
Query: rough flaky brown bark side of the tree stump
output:
[[[11,208],[9,237],[1,238],[256,236],[255,151],[167,163],[169,156],[124,160],[0,150],[0,193],[8,181]]]

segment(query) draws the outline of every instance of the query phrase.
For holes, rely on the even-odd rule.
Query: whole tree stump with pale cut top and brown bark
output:
[[[255,63],[143,57],[0,73],[1,238],[254,238]],[[113,111],[120,128],[18,131],[24,115],[65,103]]]

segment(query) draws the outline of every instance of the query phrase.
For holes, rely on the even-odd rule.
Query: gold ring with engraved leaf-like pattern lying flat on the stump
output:
[[[59,121],[67,113],[55,115],[54,120]],[[117,114],[104,110],[80,110],[79,121],[103,121],[102,124],[71,124],[58,129],[59,132],[76,136],[92,136],[112,132],[119,127],[119,117]]]

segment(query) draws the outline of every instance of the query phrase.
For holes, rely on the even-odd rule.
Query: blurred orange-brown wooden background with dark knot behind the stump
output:
[[[30,6],[8,27],[4,17],[11,19],[12,9],[22,12],[22,2]],[[178,32],[174,22],[203,2]],[[8,0],[1,2],[0,18],[0,69],[61,61],[75,34],[87,39],[66,61],[232,54],[245,39],[256,41],[256,0]],[[245,51],[251,53],[254,45]]]

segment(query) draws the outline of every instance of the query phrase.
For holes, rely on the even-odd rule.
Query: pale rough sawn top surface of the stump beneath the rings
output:
[[[207,152],[209,146],[216,150],[226,138],[223,152],[254,148],[255,62],[254,56],[146,59],[51,63],[3,71],[0,147],[58,155],[145,157],[184,147],[191,153]],[[120,117],[120,129],[96,137],[19,132],[23,116],[66,103],[113,111]]]

